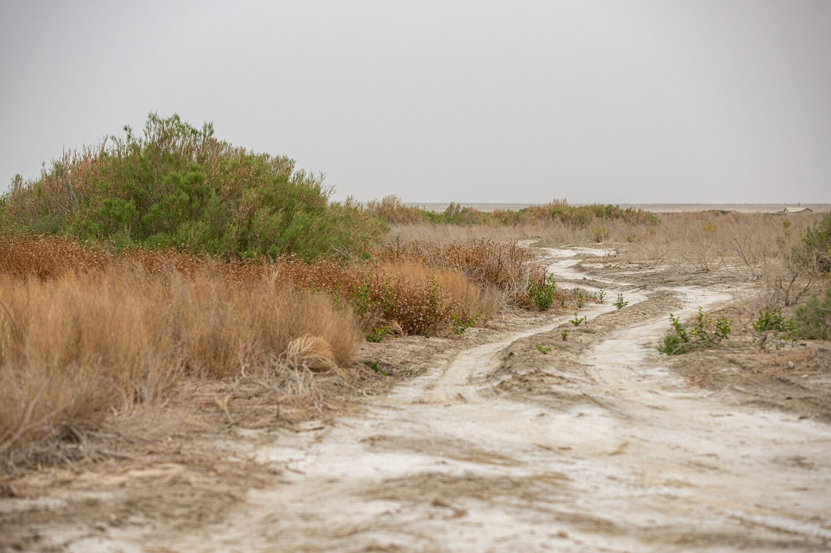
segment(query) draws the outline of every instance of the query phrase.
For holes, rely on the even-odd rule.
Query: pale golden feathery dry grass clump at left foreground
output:
[[[71,438],[179,379],[334,369],[360,340],[327,296],[113,267],[50,279],[0,275],[0,456]]]

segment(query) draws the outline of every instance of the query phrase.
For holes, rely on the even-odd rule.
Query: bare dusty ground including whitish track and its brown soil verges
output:
[[[278,406],[256,404],[226,433],[161,441],[192,462],[7,482],[0,548],[827,551],[829,346],[761,352],[740,336],[667,358],[654,345],[669,313],[735,309],[750,286],[542,253],[561,286],[607,291],[587,323],[508,315],[463,340],[366,345],[378,372],[332,379],[337,417],[273,428]]]

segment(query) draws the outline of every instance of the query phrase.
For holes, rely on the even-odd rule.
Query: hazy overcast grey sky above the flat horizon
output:
[[[831,2],[7,2],[0,191],[150,111],[337,197],[831,202]]]

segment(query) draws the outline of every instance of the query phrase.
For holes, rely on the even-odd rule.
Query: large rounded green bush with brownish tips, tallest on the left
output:
[[[151,114],[144,136],[125,132],[63,154],[40,179],[15,179],[0,224],[227,258],[360,252],[386,230],[351,199],[330,202],[322,175],[220,141],[210,124]]]

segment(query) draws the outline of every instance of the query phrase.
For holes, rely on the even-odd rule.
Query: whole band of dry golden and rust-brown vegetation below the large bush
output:
[[[80,439],[107,414],[154,404],[183,381],[268,374],[278,393],[319,400],[314,374],[342,374],[378,328],[450,335],[505,299],[530,305],[529,279],[543,275],[525,248],[481,240],[314,263],[111,254],[61,237],[0,235],[0,247],[7,467],[27,444]]]

